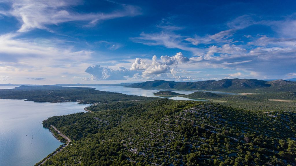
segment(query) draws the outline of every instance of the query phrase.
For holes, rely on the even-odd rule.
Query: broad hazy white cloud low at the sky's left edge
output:
[[[20,39],[19,33],[9,33],[0,36],[0,73],[9,74],[13,78],[57,76],[67,72],[84,74],[81,68],[89,64],[93,51],[73,50],[71,46],[55,44],[47,39],[46,44],[36,43],[34,39]],[[24,78],[25,79],[25,78]],[[33,80],[33,79],[31,79]]]

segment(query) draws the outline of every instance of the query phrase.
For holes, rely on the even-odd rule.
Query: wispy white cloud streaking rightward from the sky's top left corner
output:
[[[77,13],[71,7],[80,4],[79,1],[67,0],[12,0],[4,1],[11,9],[0,11],[0,14],[16,17],[22,26],[19,32],[26,32],[34,28],[51,31],[47,25],[58,25],[70,21],[87,21],[87,25],[94,25],[99,21],[140,14],[139,7],[118,4],[121,9],[109,13]]]

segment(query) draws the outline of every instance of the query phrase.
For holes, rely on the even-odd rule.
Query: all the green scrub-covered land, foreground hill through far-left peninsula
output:
[[[268,100],[292,100],[295,92],[195,92],[185,97],[215,102],[77,87],[0,91],[6,99],[93,104],[87,108],[91,113],[43,121],[44,127],[53,125],[72,140],[44,165],[296,165],[296,102]]]

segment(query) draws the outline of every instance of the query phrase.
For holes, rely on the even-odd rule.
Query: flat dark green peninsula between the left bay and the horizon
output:
[[[0,90],[0,99],[26,99],[34,102],[79,102],[109,103],[130,100],[153,100],[152,97],[124,95],[122,93],[104,92],[94,88],[60,87],[60,86],[25,86],[14,90]]]

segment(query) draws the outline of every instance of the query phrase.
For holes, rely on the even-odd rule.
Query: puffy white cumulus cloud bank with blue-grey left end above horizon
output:
[[[155,78],[173,78],[176,77],[177,71],[170,69],[170,67],[177,66],[189,62],[181,52],[174,56],[161,56],[162,61],[157,61],[157,56],[152,57],[151,60],[136,58],[135,62],[129,69],[118,67],[112,70],[108,67],[100,65],[89,66],[85,71],[93,76],[95,80],[121,80],[121,79],[155,79]],[[170,76],[168,76],[170,74]],[[178,79],[183,79],[183,77]]]

